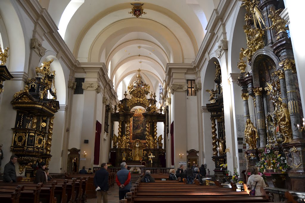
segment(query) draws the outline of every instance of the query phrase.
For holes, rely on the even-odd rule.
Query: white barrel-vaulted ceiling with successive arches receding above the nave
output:
[[[49,3],[45,3],[48,2]],[[40,0],[80,62],[111,67],[114,89],[126,87],[137,69],[157,92],[167,63],[194,61],[220,0]],[[129,14],[131,3],[146,14]],[[123,91],[124,93],[124,91]]]

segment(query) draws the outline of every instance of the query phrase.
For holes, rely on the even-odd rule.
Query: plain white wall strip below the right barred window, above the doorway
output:
[[[199,150],[198,146],[198,110],[197,96],[186,97],[186,133],[187,151]]]

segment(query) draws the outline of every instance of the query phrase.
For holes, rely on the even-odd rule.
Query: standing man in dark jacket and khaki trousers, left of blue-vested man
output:
[[[94,185],[96,187],[96,196],[97,196],[97,203],[102,202],[102,196],[103,196],[103,202],[108,203],[107,199],[107,191],[109,189],[108,186],[108,178],[109,178],[109,173],[107,171],[107,164],[102,163],[101,164],[101,169],[95,172],[94,176]]]

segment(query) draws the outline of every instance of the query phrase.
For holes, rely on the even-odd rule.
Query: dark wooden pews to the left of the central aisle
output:
[[[12,203],[85,203],[89,177],[52,179],[46,184],[0,181],[0,198]],[[1,199],[2,200],[2,199]],[[2,201],[1,201],[2,202]]]

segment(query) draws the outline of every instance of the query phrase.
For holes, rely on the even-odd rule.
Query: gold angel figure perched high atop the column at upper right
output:
[[[287,21],[282,19],[280,16],[280,13],[282,12],[283,9],[278,9],[277,11],[275,10],[274,6],[270,7],[270,14],[268,18],[272,20],[272,25],[271,29],[274,29],[276,31],[276,34],[280,32],[286,32],[286,30],[289,30],[288,27],[286,27]]]

